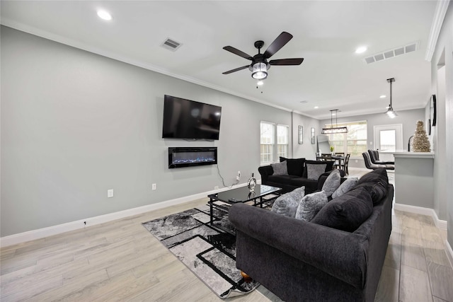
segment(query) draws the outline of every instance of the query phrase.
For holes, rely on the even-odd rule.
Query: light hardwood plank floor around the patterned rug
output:
[[[142,226],[206,201],[2,248],[0,300],[221,301]],[[395,211],[376,301],[453,302],[446,236],[428,216]],[[258,289],[227,301],[280,299]]]

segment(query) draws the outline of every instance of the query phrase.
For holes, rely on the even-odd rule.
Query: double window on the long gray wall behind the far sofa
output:
[[[275,131],[277,128],[277,131]],[[277,141],[277,145],[275,144]],[[260,164],[277,161],[278,156],[288,157],[289,127],[284,124],[260,122]]]

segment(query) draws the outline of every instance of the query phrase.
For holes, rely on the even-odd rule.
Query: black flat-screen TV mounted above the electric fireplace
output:
[[[164,139],[219,139],[222,107],[164,96]]]

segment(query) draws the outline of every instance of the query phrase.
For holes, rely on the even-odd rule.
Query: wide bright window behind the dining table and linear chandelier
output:
[[[331,127],[326,124],[326,128]],[[361,157],[367,152],[367,121],[338,123],[338,127],[348,127],[348,133],[329,134],[329,142],[334,152],[350,153],[351,157]]]

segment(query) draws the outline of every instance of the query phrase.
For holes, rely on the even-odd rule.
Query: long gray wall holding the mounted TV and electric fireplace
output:
[[[161,139],[164,94],[222,106],[219,141]],[[246,182],[260,120],[291,115],[1,27],[1,237],[222,187],[216,165],[169,170],[168,146],[217,146]]]

